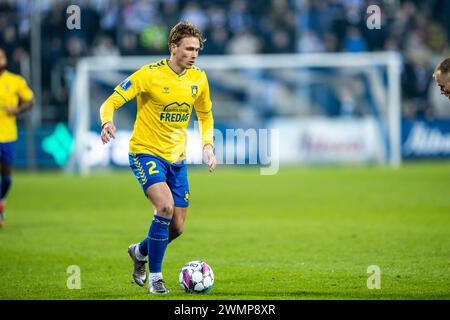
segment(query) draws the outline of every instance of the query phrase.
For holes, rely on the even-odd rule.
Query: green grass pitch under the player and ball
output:
[[[0,230],[1,299],[449,299],[450,164],[389,168],[190,169],[185,233],[169,245],[167,296],[131,283],[127,247],[152,209],[129,171],[16,173]],[[184,293],[190,260],[213,268]],[[81,290],[69,290],[69,265]],[[367,267],[381,289],[367,288]]]

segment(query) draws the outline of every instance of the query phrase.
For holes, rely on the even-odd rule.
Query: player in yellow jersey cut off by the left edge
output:
[[[16,116],[33,106],[33,92],[21,76],[6,70],[7,63],[6,53],[0,48],[0,227],[4,224],[5,199],[12,182]]]

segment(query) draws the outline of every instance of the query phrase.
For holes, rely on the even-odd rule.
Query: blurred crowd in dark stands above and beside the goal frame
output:
[[[71,4],[81,8],[80,30],[66,27]],[[373,4],[381,8],[381,29],[369,30]],[[36,19],[42,104],[55,106],[56,118],[67,115],[64,68],[87,55],[166,55],[179,20],[204,32],[202,54],[400,51],[403,112],[411,118],[434,116],[433,63],[449,55],[450,41],[450,0],[0,0],[0,44],[13,71],[30,57]]]

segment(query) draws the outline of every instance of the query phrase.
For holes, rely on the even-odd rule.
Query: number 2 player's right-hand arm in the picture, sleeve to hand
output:
[[[195,113],[200,124],[200,134],[203,142],[203,158],[208,164],[209,171],[216,168],[214,155],[214,118],[212,114],[212,102],[209,94],[208,79],[205,75],[200,96],[195,101]]]

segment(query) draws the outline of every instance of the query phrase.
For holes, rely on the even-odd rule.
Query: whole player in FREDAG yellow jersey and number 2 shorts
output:
[[[130,140],[130,167],[140,182],[155,215],[148,236],[132,244],[133,279],[149,292],[167,293],[161,266],[167,244],[183,232],[189,205],[185,164],[186,129],[195,109],[209,170],[216,166],[213,147],[212,103],[205,72],[194,66],[204,39],[191,23],[180,22],[169,34],[170,58],[145,65],[115,88],[100,108],[101,138],[114,138],[114,110],[137,99],[137,117]]]

